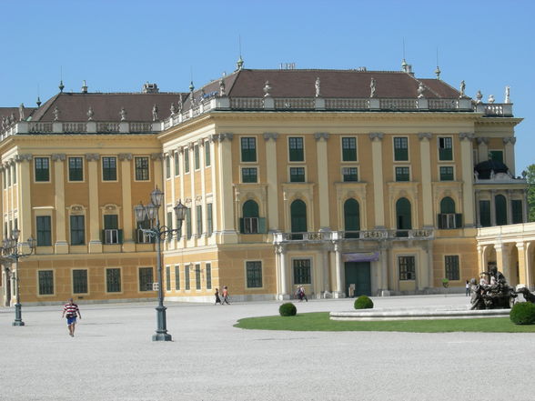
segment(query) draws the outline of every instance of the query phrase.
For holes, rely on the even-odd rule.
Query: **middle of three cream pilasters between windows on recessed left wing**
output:
[[[102,253],[100,240],[100,213],[98,207],[98,160],[100,155],[87,153],[87,183],[89,184],[89,249],[90,254]]]

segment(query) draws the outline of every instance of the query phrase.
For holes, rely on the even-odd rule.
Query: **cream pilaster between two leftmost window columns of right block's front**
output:
[[[266,141],[267,175],[267,224],[269,231],[278,231],[278,181],[277,181],[277,138],[278,133],[264,133]]]

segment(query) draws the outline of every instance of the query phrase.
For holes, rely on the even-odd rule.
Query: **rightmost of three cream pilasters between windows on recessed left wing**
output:
[[[123,197],[123,252],[134,252],[134,206],[132,205],[132,154],[120,153],[121,191]]]

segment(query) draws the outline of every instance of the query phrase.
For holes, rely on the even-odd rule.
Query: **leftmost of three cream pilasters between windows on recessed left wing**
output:
[[[56,254],[68,254],[69,246],[66,241],[66,204],[65,204],[65,160],[66,154],[59,153],[52,155],[54,162],[54,190],[56,195]]]

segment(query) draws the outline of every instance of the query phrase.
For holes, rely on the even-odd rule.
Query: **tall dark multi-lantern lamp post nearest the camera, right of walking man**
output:
[[[182,222],[184,221],[186,206],[178,201],[177,205],[173,207],[175,210],[175,217],[177,219],[177,228],[160,226],[160,218],[158,210],[164,201],[164,193],[157,187],[150,193],[150,203],[143,205],[141,202],[134,210],[136,211],[137,225],[141,231],[156,241],[156,265],[158,278],[158,306],[156,306],[156,334],[152,336],[153,341],[171,341],[172,337],[167,333],[167,318],[166,309],[164,306],[164,292],[162,286],[162,257],[161,257],[161,242],[166,237],[179,236],[182,229]],[[155,222],[156,224],[150,228],[143,228],[142,225],[146,223]]]

